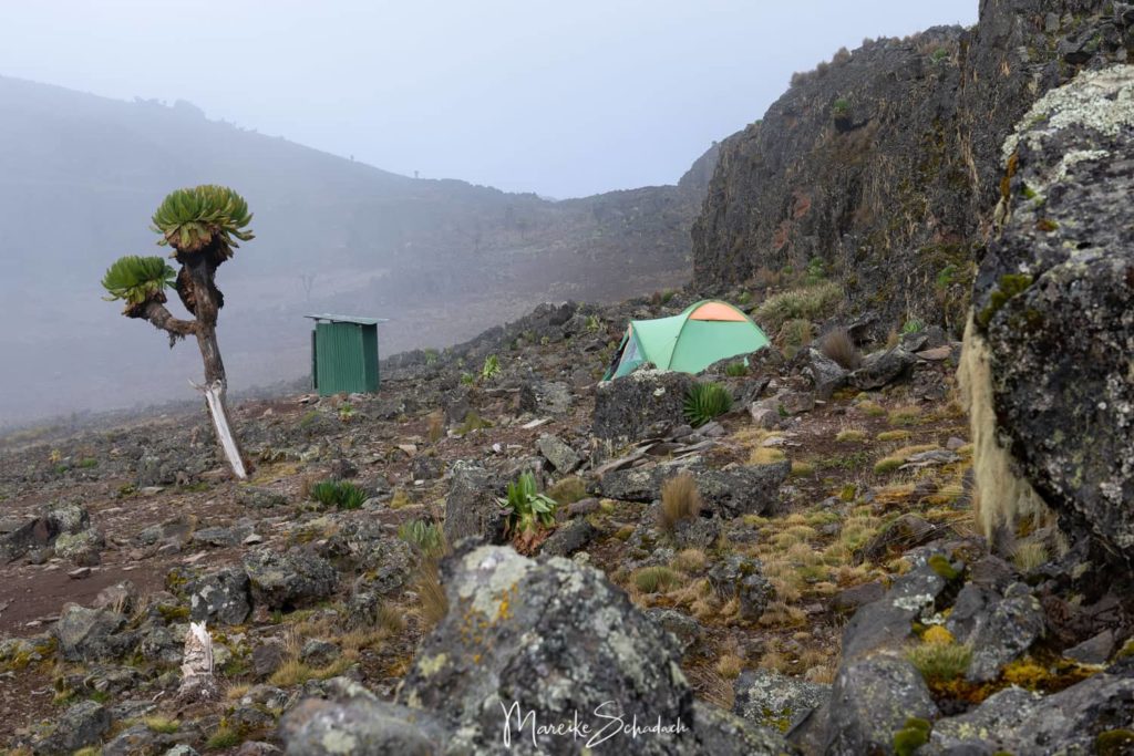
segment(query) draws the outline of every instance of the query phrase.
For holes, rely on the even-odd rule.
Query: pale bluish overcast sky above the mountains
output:
[[[672,184],[795,70],[978,0],[0,0],[0,75],[188,100],[423,178]]]

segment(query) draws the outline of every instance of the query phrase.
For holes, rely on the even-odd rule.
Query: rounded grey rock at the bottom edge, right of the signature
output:
[[[937,705],[921,672],[894,656],[844,664],[831,688],[826,754],[894,753],[894,734],[911,717],[932,722]]]

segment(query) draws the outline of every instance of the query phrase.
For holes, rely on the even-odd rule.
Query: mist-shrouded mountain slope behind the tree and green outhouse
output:
[[[163,254],[150,215],[174,188],[225,184],[255,214],[256,238],[218,279],[240,388],[307,371],[314,311],[391,317],[380,345],[391,354],[469,338],[544,299],[678,284],[706,180],[702,167],[680,186],[550,202],[390,173],[180,101],[0,77],[0,299],[15,313],[0,333],[0,425],[192,396],[195,347],[170,354],[100,299],[119,255]]]

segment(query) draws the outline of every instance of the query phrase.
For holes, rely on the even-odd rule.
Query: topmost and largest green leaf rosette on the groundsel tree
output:
[[[171,192],[151,220],[151,228],[161,235],[158,244],[174,247],[179,262],[185,262],[183,255],[208,248],[220,264],[240,246],[237,240],[253,238],[245,230],[252,222],[248,203],[227,186],[206,184]]]

